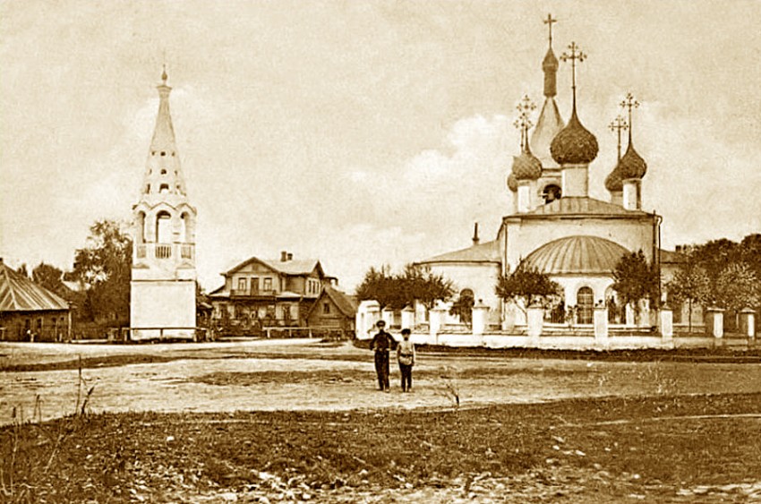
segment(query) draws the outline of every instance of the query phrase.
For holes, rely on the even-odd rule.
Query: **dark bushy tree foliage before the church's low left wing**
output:
[[[363,301],[374,299],[381,307],[400,310],[415,300],[431,310],[437,300],[446,301],[454,294],[452,282],[431,269],[407,264],[400,274],[392,274],[389,266],[371,268],[356,288]]]

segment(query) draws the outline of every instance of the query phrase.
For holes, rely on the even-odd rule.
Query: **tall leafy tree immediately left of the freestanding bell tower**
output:
[[[86,246],[74,255],[73,275],[86,287],[91,320],[129,320],[132,250],[132,239],[117,222],[90,226]]]

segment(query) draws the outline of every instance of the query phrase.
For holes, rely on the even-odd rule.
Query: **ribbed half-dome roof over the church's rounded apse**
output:
[[[610,274],[628,250],[599,236],[567,236],[528,254],[521,268],[547,274]]]

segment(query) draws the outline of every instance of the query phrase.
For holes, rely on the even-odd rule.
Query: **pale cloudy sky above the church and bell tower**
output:
[[[96,220],[131,221],[162,64],[207,291],[252,256],[319,259],[350,292],[475,222],[491,240],[548,13],[556,55],[587,56],[590,195],[631,92],[664,247],[761,232],[759,1],[0,0],[0,257],[71,269]],[[561,63],[566,120],[570,81]]]

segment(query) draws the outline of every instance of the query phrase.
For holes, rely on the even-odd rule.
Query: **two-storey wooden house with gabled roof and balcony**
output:
[[[267,327],[306,327],[307,315],[335,281],[315,259],[252,257],[236,262],[222,276],[225,284],[209,293],[212,323],[232,333],[254,334]]]

